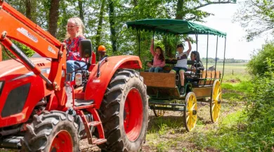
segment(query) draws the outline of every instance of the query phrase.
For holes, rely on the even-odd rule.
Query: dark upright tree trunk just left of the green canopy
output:
[[[112,50],[113,52],[117,51],[117,39],[116,39],[116,31],[115,31],[115,7],[112,0],[109,0],[108,4],[110,10],[109,10],[109,16],[110,16],[110,40],[112,42]]]

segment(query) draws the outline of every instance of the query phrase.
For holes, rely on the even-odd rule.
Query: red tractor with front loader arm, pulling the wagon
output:
[[[67,82],[66,46],[0,1],[0,42],[16,58],[0,62],[0,148],[79,151],[87,138],[102,151],[139,151],[148,127],[148,95],[138,56],[89,58]],[[11,39],[41,58],[27,58]],[[12,57],[12,56],[11,56]]]

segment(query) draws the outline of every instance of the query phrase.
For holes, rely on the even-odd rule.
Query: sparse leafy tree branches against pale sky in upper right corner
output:
[[[274,34],[274,1],[245,0],[235,13],[234,22],[239,22],[247,32],[248,42],[265,32]]]

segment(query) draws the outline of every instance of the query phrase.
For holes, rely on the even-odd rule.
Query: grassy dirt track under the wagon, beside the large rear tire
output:
[[[241,103],[241,102],[239,102]],[[228,101],[223,101],[221,117],[225,118],[229,113],[235,113],[237,110],[242,109],[241,104],[232,104]],[[198,121],[197,126],[193,132],[186,132],[182,122],[182,114],[179,112],[168,111],[165,113],[164,118],[155,118],[152,110],[150,110],[150,122],[148,127],[148,135],[143,144],[142,151],[216,151],[213,148],[199,149],[190,137],[194,134],[209,132],[211,129],[218,129],[218,123],[212,124],[209,115],[209,104],[198,104]],[[164,125],[166,124],[166,125]],[[164,129],[159,126],[166,126]],[[162,134],[161,134],[162,132]],[[163,143],[162,147],[161,144]],[[169,144],[168,150],[164,147]],[[86,140],[81,141],[81,151],[100,151],[97,146],[90,146]]]

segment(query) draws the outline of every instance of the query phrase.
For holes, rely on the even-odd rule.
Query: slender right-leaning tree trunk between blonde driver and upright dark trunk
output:
[[[102,33],[102,24],[103,24],[103,14],[105,11],[104,8],[105,8],[105,0],[102,1],[101,8],[100,8],[99,23],[98,23],[98,28],[97,28],[97,32],[96,32],[96,49],[100,45],[101,38],[102,38],[101,33]],[[99,57],[99,54],[96,53],[96,56]]]

